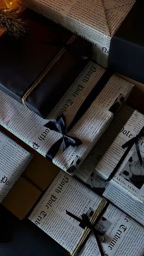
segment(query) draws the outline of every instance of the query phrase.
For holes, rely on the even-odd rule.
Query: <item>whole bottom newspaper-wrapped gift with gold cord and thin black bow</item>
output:
[[[29,219],[70,255],[144,252],[143,227],[64,172],[59,172]]]

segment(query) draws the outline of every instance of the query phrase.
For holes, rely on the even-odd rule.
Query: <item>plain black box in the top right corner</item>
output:
[[[109,67],[144,83],[144,1],[138,0],[110,42]]]

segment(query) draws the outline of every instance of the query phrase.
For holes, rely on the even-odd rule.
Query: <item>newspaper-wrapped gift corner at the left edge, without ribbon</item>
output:
[[[32,159],[31,153],[0,131],[0,202]]]

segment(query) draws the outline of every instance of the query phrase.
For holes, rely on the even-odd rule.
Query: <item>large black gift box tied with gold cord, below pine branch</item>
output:
[[[87,64],[90,43],[31,10],[29,31],[0,37],[0,89],[41,117],[54,108]]]

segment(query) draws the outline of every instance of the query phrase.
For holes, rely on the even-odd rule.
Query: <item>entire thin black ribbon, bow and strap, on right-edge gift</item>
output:
[[[126,158],[126,156],[128,155],[129,151],[131,150],[134,144],[137,151],[137,156],[139,158],[139,162],[141,165],[143,164],[143,159],[142,159],[142,156],[140,153],[140,147],[139,147],[139,139],[141,137],[144,137],[144,126],[142,130],[140,130],[140,132],[135,137],[132,137],[132,139],[130,139],[129,141],[127,141],[121,146],[122,148],[126,148],[126,151],[124,152],[123,156],[121,156],[120,161],[118,162],[117,166],[115,166],[115,168],[113,169],[109,178],[107,178],[107,181],[112,180],[113,176],[116,174],[118,168],[121,166],[121,164],[123,163],[124,159]]]

